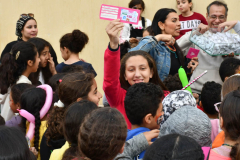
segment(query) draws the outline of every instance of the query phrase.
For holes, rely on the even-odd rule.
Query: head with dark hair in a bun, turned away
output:
[[[72,33],[65,34],[60,39],[62,58],[66,61],[71,53],[78,54],[87,43],[88,36],[78,29],[73,30]]]

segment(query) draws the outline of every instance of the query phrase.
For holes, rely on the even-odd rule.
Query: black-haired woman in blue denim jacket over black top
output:
[[[131,51],[142,50],[150,53],[157,64],[158,75],[163,81],[169,74],[178,73],[184,66],[182,51],[175,43],[180,33],[180,22],[174,9],[163,8],[153,18],[152,29],[156,36],[144,37]]]

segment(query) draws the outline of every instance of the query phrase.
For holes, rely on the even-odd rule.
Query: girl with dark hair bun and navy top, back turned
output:
[[[62,72],[63,67],[69,65],[80,65],[86,73],[93,73],[97,76],[97,73],[93,69],[90,63],[85,62],[79,58],[79,52],[88,43],[88,36],[76,29],[72,33],[67,33],[60,39],[60,50],[62,53],[62,58],[65,62],[57,65],[56,70],[58,73]]]

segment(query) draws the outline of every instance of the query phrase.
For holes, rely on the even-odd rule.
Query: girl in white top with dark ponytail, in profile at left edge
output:
[[[28,77],[32,72],[37,72],[40,58],[34,44],[18,42],[9,53],[4,54],[1,62],[1,116],[8,121],[14,116],[9,105],[10,86],[18,83],[32,84]]]

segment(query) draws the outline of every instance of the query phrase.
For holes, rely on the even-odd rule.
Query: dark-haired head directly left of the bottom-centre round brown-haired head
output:
[[[84,117],[97,108],[93,102],[82,100],[69,106],[64,114],[63,132],[70,147],[63,155],[64,159],[73,159],[77,156],[78,133]]]

